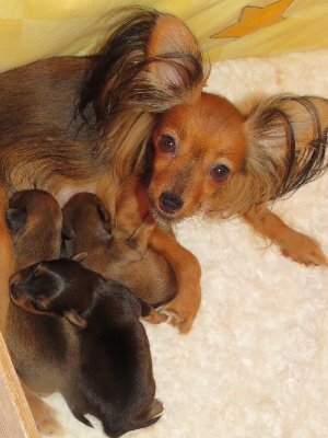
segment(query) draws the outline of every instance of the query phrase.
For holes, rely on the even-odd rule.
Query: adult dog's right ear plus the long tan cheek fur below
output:
[[[273,201],[319,177],[328,160],[328,100],[274,95],[258,103],[245,122],[246,173],[236,175],[213,210],[225,217]],[[219,200],[218,200],[219,201]]]

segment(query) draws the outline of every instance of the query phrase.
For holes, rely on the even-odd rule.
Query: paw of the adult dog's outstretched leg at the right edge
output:
[[[327,265],[327,256],[324,254],[320,245],[308,238],[293,230],[289,239],[281,245],[282,254],[292,257],[295,262],[305,265]]]

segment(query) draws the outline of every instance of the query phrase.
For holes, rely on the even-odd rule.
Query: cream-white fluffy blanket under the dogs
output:
[[[328,97],[328,50],[214,66],[211,91],[241,101],[253,92]],[[328,254],[328,175],[274,206]],[[157,397],[165,412],[131,438],[327,438],[328,268],[283,257],[242,220],[188,220],[178,240],[202,266],[194,328],[145,325]],[[96,358],[95,358],[96,360]],[[59,395],[65,437],[102,438],[75,420]]]

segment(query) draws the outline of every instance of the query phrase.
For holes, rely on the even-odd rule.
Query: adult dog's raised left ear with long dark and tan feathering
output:
[[[79,106],[83,118],[101,129],[98,152],[118,181],[143,170],[156,115],[191,100],[207,78],[184,23],[151,9],[130,11],[99,51]]]

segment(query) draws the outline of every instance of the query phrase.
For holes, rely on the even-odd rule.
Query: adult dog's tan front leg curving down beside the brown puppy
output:
[[[191,328],[201,301],[199,262],[172,233],[165,233],[159,227],[152,233],[150,246],[166,258],[175,272],[177,295],[162,309],[172,316],[172,324],[186,334]]]

